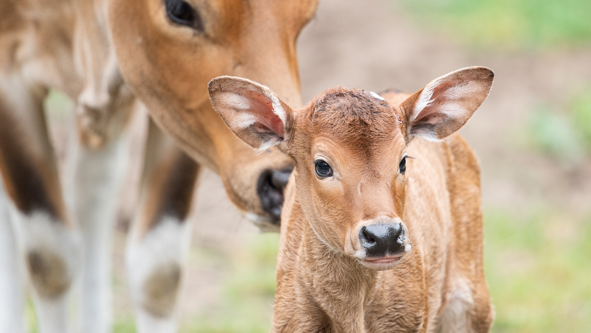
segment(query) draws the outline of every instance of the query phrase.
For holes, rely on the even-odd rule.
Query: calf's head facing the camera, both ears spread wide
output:
[[[210,82],[216,111],[258,150],[277,145],[295,163],[296,193],[317,237],[376,270],[411,248],[405,177],[414,137],[439,141],[482,104],[493,73],[469,67],[441,76],[400,105],[372,92],[332,88],[292,111],[270,89],[238,77]]]

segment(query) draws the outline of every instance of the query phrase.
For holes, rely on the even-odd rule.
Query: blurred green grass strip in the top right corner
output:
[[[480,49],[591,46],[587,0],[404,0],[417,24]]]

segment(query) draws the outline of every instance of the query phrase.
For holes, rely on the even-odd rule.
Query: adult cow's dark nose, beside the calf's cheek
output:
[[[279,224],[283,206],[283,190],[290,179],[291,170],[267,169],[261,173],[256,193],[261,200],[261,208],[269,213],[275,224]]]

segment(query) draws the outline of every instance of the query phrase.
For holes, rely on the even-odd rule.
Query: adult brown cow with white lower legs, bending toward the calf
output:
[[[121,133],[131,112],[144,108],[137,97],[157,124],[148,130],[127,254],[140,332],[176,330],[185,219],[202,165],[220,174],[230,199],[251,218],[277,226],[290,163],[271,151],[255,155],[239,141],[213,111],[207,82],[250,77],[300,106],[296,38],[316,5],[0,2],[0,171],[8,196],[7,209],[0,206],[0,331],[23,331],[21,259],[41,332],[67,331],[67,294],[79,274],[82,331],[111,329],[113,193],[124,170]],[[65,188],[43,114],[49,89],[76,102],[79,140],[71,145],[75,167]]]

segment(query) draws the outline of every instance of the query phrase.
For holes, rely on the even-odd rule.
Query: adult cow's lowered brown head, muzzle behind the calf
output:
[[[207,82],[238,75],[301,105],[296,39],[317,0],[109,0],[109,27],[126,82],[151,117],[197,161],[219,173],[230,199],[278,222],[293,163],[255,154],[213,111]],[[254,215],[251,215],[254,216]]]

